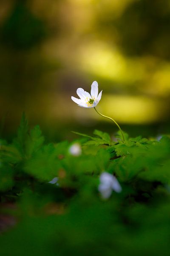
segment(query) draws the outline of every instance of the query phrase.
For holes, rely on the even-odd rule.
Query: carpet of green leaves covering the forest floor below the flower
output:
[[[124,132],[76,133],[74,142],[45,144],[23,115],[12,143],[0,141],[1,207],[18,223],[0,239],[11,255],[169,255],[170,137],[160,141]],[[122,192],[100,197],[99,175],[115,175]],[[48,183],[57,177],[56,183]]]

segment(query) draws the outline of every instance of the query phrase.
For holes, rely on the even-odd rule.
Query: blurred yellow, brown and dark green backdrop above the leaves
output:
[[[169,132],[169,28],[169,0],[1,0],[1,137],[23,111],[50,140],[116,131],[71,101],[94,80],[98,110],[130,135]]]

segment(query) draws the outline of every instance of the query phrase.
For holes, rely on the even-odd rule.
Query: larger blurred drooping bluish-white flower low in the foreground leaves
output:
[[[100,184],[98,189],[104,199],[108,199],[113,190],[117,193],[122,191],[119,181],[108,172],[103,172],[100,175]]]

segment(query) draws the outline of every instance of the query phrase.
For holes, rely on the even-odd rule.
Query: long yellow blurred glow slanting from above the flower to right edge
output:
[[[82,70],[121,87],[138,87],[155,96],[170,94],[170,64],[153,56],[129,57],[102,41],[86,44],[80,54]]]

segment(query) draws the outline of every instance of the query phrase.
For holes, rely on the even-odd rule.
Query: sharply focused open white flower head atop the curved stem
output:
[[[102,91],[98,95],[98,83],[96,81],[91,84],[91,95],[82,88],[77,89],[77,95],[80,99],[71,96],[71,99],[83,108],[94,108],[102,97]]]

